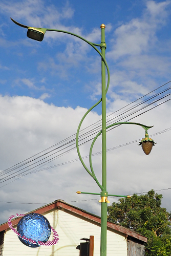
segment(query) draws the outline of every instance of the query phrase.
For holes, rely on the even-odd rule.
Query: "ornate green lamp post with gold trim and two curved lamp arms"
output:
[[[12,19],[12,18],[11,18]],[[77,134],[76,134],[76,146],[77,146],[77,152],[79,159],[83,165],[83,167],[87,170],[87,172],[92,176],[92,178],[96,181],[97,185],[101,189],[101,193],[87,193],[87,192],[81,192],[77,191],[77,194],[91,194],[91,195],[100,195],[101,200],[99,201],[101,203],[101,239],[100,239],[100,255],[101,256],[106,256],[106,234],[107,234],[107,207],[108,207],[108,196],[114,196],[114,197],[130,197],[130,196],[119,196],[119,195],[108,195],[107,188],[106,188],[106,129],[118,125],[118,124],[136,124],[141,126],[145,130],[145,138],[141,140],[140,145],[142,145],[143,151],[146,155],[148,155],[151,150],[152,146],[154,145],[154,141],[148,137],[147,130],[153,126],[146,126],[140,123],[135,123],[135,122],[118,122],[118,123],[113,123],[109,126],[106,127],[106,93],[108,92],[109,88],[109,83],[110,83],[110,73],[109,73],[109,68],[105,60],[105,49],[106,49],[106,44],[105,44],[105,25],[102,24],[100,26],[101,28],[101,44],[94,44],[93,42],[90,42],[83,37],[76,35],[74,33],[68,32],[68,31],[63,31],[63,30],[57,30],[57,29],[47,29],[47,28],[34,28],[34,27],[29,27],[25,26],[22,24],[17,23],[15,20],[12,19],[12,21],[23,28],[27,28],[27,36],[31,39],[37,40],[37,41],[42,41],[44,39],[44,35],[46,31],[55,31],[55,32],[62,32],[62,33],[67,33],[73,36],[76,36],[80,38],[83,41],[86,41],[91,47],[93,47],[98,54],[101,56],[101,99],[95,103],[87,112],[84,114],[82,117],[78,129],[77,129]],[[100,47],[101,52],[97,49],[97,47]],[[108,72],[108,82],[106,85],[105,82],[105,69]],[[86,164],[83,162],[80,151],[79,151],[79,131],[81,124],[84,120],[84,118],[88,115],[88,113],[95,108],[100,102],[102,102],[102,129],[101,131],[96,135],[94,138],[91,147],[90,147],[90,155],[89,155],[89,162],[90,162],[90,170],[86,166]],[[96,175],[93,170],[92,166],[92,149],[93,145],[96,141],[96,139],[102,135],[102,184],[99,183],[99,181],[96,178]]]

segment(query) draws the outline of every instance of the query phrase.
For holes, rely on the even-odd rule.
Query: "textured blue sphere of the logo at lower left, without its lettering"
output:
[[[31,239],[34,244],[28,241],[25,238],[18,237],[19,240],[29,246],[29,247],[38,247],[38,241],[47,242],[51,235],[51,225],[49,221],[42,216],[41,214],[27,214],[25,215],[17,225],[17,232],[27,239]]]

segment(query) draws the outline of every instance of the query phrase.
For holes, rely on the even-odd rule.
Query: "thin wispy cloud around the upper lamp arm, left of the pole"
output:
[[[0,3],[0,12],[7,13],[12,18],[16,19],[17,22],[33,26],[33,27],[48,27],[53,29],[59,29],[64,31],[70,31],[74,34],[77,34],[79,36],[82,36],[83,38],[86,38],[89,41],[96,42],[97,44],[100,44],[100,38],[101,38],[101,30],[99,28],[93,28],[92,31],[89,31],[87,34],[84,34],[82,32],[82,28],[75,27],[75,26],[64,26],[62,25],[63,19],[71,19],[74,15],[74,10],[69,5],[69,2],[66,3],[66,5],[63,5],[63,7],[57,7],[54,5],[47,5],[45,1],[42,0],[28,0],[28,1],[17,1],[12,2],[11,4],[8,4],[3,1]],[[13,24],[15,28],[17,29],[16,25]],[[108,29],[106,31],[111,30],[111,24],[108,25]],[[7,47],[7,42],[2,39],[2,45]],[[73,65],[79,65],[81,61],[88,61],[89,65],[92,62],[92,59],[87,58],[87,52],[91,50],[91,46],[89,46],[86,42],[81,40],[80,38],[77,38],[72,35],[68,35],[65,33],[56,33],[47,31],[44,41],[47,42],[48,46],[56,45],[56,40],[58,44],[62,42],[67,42],[66,49],[57,55],[57,59],[54,58],[52,62],[54,62],[55,65],[50,65],[52,68],[52,72],[54,67],[57,67],[57,69],[61,66],[61,70],[66,70]],[[1,44],[1,40],[0,40]],[[27,40],[20,40],[17,41],[17,43],[14,44],[25,44],[28,47],[32,47],[32,42],[30,39]],[[8,44],[10,47],[10,44]],[[34,46],[37,47],[37,46]],[[60,67],[57,61],[60,62]],[[41,63],[39,65],[40,67],[47,66],[47,63]],[[52,67],[53,66],[53,67]],[[56,69],[56,68],[55,68]],[[64,71],[63,71],[64,72]],[[67,73],[67,71],[66,71]],[[62,76],[65,77],[66,73]]]

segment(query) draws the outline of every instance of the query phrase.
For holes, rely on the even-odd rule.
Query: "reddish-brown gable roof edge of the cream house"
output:
[[[96,215],[91,214],[90,212],[88,212],[86,210],[83,210],[83,209],[80,209],[80,208],[75,207],[73,205],[70,205],[70,204],[68,204],[65,201],[60,200],[60,199],[56,200],[56,201],[54,201],[50,204],[47,204],[45,206],[42,206],[38,209],[32,210],[29,213],[36,212],[37,214],[45,214],[46,212],[52,211],[54,209],[67,210],[68,212],[70,212],[70,214],[76,214],[78,217],[83,217],[83,218],[87,219],[87,221],[91,220],[91,221],[93,221],[95,223],[98,223],[98,224],[101,223],[101,219],[100,219],[99,216],[96,216]],[[13,226],[17,225],[20,219],[22,219],[22,217],[17,217],[15,219],[11,220],[12,225]],[[142,242],[147,243],[147,238],[146,237],[142,236],[141,234],[139,234],[135,231],[132,231],[129,228],[122,227],[122,226],[120,226],[118,224],[115,224],[111,221],[108,221],[107,227],[111,228],[115,231],[118,231],[118,232],[121,232],[121,233],[125,234],[126,237],[127,236],[133,237],[135,239],[138,239]],[[9,228],[8,222],[6,222],[4,224],[1,224],[0,225],[0,232],[6,230],[8,228]]]

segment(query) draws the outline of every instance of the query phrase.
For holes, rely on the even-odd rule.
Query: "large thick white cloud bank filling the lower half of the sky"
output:
[[[0,163],[1,170],[23,161],[55,143],[75,134],[78,123],[86,109],[57,107],[42,100],[30,97],[0,97]],[[149,135],[171,126],[168,115],[170,104],[164,104],[134,119],[146,125],[155,125]],[[87,127],[100,119],[96,113],[90,113],[83,123]],[[164,124],[164,126],[163,126]],[[100,127],[99,127],[100,129]],[[107,148],[111,148],[144,136],[144,130],[139,126],[122,125],[107,133]],[[152,153],[146,156],[138,143],[117,148],[107,153],[108,157],[108,191],[110,194],[127,195],[148,191],[151,188],[169,187],[170,132],[154,137],[156,146]],[[153,137],[152,137],[153,138]],[[67,146],[67,145],[66,145]],[[75,140],[73,145],[75,146]],[[66,148],[70,149],[72,146]],[[54,148],[54,147],[53,147]],[[52,148],[52,149],[53,149]],[[89,154],[90,144],[80,147],[82,156]],[[101,137],[94,145],[93,153],[101,151]],[[63,151],[61,151],[62,153]],[[43,167],[58,165],[77,159],[76,150],[65,154]],[[88,165],[88,159],[84,160]],[[93,166],[97,178],[101,180],[101,156],[93,157]],[[32,167],[32,166],[31,166]],[[32,169],[31,169],[32,170]],[[162,172],[161,172],[162,170]],[[10,181],[10,180],[9,180]],[[12,180],[11,180],[12,181]],[[0,187],[4,183],[0,184]],[[95,181],[87,174],[80,161],[60,165],[39,173],[24,176],[7,186],[0,188],[1,201],[48,203],[56,199],[67,202],[98,198],[97,196],[77,195],[76,191],[92,191],[99,193]],[[36,196],[35,196],[36,195]],[[164,205],[167,204],[168,194]],[[115,199],[110,199],[113,202]],[[100,214],[98,200],[71,202],[78,207]],[[39,205],[38,205],[39,206]],[[7,221],[7,214],[23,213],[37,208],[37,205],[2,204],[1,222]]]

